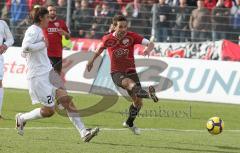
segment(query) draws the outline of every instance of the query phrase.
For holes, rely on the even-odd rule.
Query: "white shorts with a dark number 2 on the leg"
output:
[[[54,106],[56,87],[49,81],[49,73],[28,79],[29,94],[32,104],[41,103],[47,107]]]

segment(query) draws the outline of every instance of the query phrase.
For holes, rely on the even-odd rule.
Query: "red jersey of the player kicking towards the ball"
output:
[[[111,60],[111,73],[135,71],[134,45],[142,44],[143,37],[134,32],[127,32],[121,40],[114,33],[102,38],[102,47],[107,48]]]

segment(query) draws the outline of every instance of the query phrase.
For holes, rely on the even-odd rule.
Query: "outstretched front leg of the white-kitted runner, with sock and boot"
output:
[[[99,128],[86,129],[84,123],[81,121],[80,115],[77,108],[72,102],[72,98],[68,96],[67,92],[62,89],[57,89],[56,91],[57,103],[65,108],[67,115],[73,125],[76,127],[80,133],[84,142],[89,142],[94,136],[99,132]]]

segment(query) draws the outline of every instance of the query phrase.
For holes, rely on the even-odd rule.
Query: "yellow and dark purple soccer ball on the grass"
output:
[[[224,128],[224,122],[219,117],[212,117],[207,121],[207,130],[213,135],[220,134]]]

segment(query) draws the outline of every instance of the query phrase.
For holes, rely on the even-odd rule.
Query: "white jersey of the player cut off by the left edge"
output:
[[[5,42],[3,42],[5,40]],[[0,20],[0,45],[5,44],[7,47],[12,46],[14,42],[13,36],[7,23],[3,20]]]

